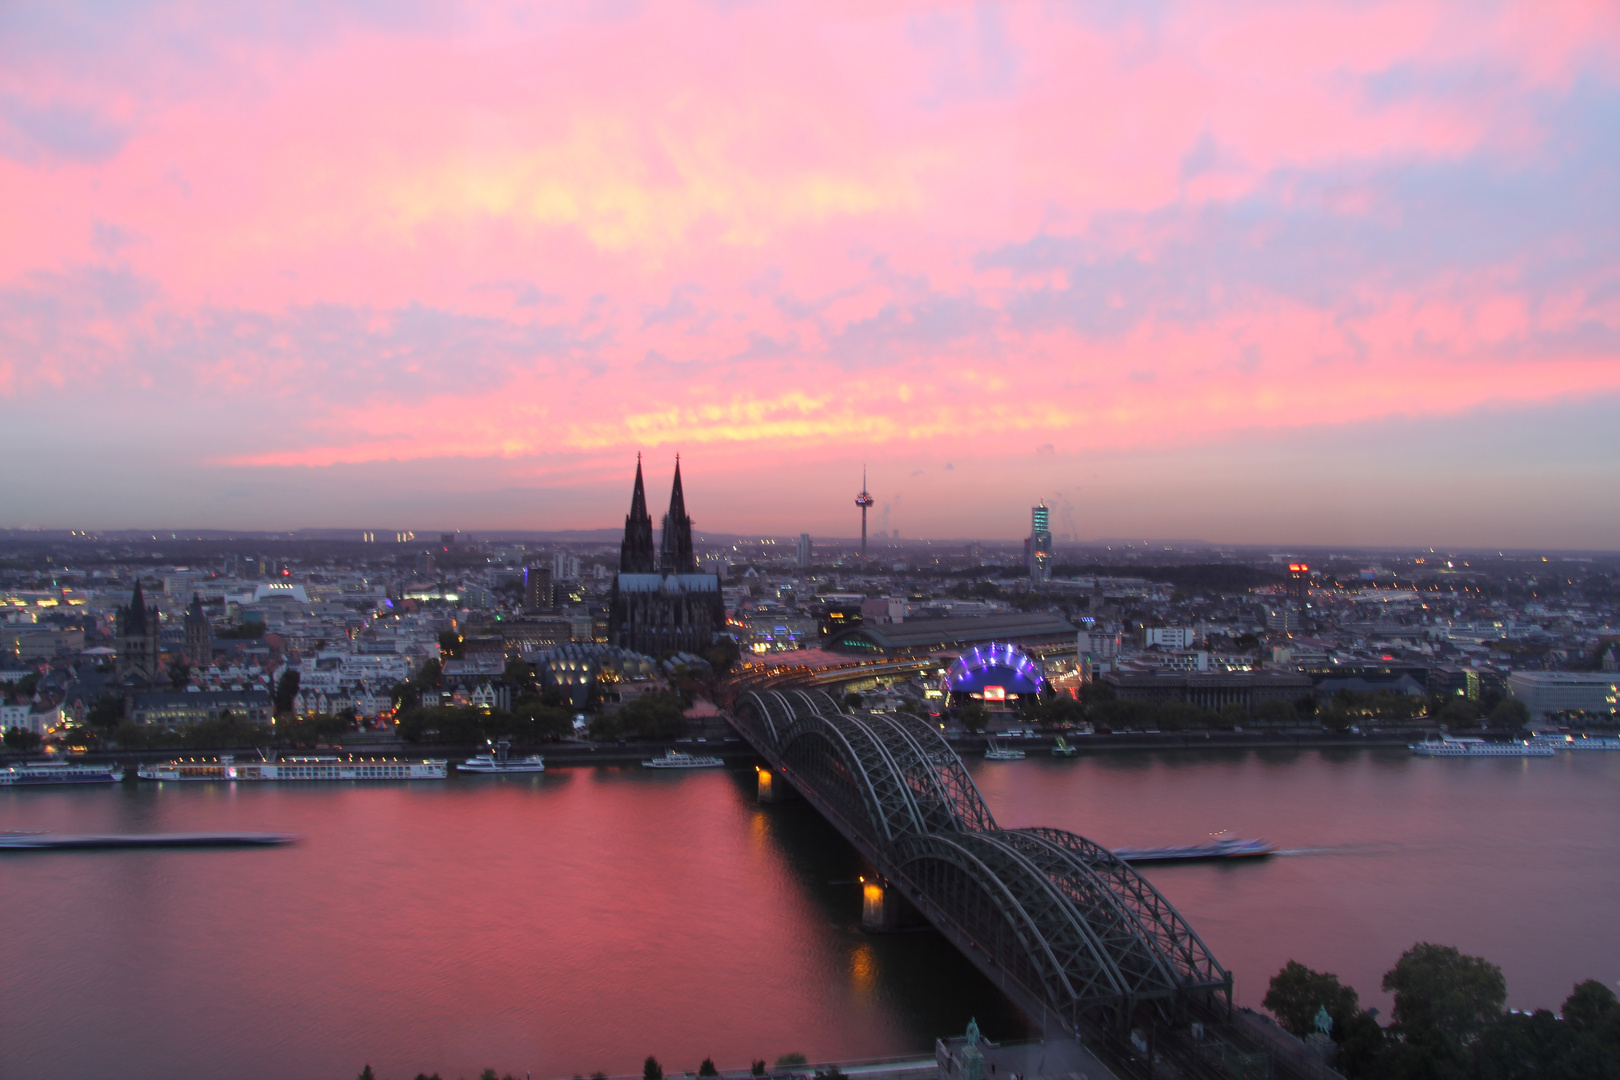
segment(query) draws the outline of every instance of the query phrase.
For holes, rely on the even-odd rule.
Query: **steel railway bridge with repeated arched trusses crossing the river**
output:
[[[1105,847],[1001,829],[961,758],[907,714],[852,716],[820,690],[755,690],[732,725],[1032,1020],[1128,1027],[1231,1002],[1231,975],[1186,920]]]

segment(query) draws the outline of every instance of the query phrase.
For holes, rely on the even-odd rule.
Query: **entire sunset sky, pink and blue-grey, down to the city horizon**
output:
[[[1620,549],[1620,5],[0,5],[0,528]]]

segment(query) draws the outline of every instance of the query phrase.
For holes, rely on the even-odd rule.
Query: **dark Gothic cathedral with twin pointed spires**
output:
[[[719,575],[698,573],[692,551],[692,518],[680,491],[680,458],[669,513],[659,544],[653,547],[653,518],[642,487],[642,458],[635,460],[635,489],[624,518],[619,573],[612,581],[612,614],[608,640],[620,649],[663,657],[697,653],[714,641],[726,625],[726,601]]]

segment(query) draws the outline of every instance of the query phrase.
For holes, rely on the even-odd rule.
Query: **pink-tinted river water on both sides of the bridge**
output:
[[[1414,941],[1510,1004],[1620,980],[1620,753],[1113,753],[977,763],[1004,826],[1283,853],[1152,881],[1259,1004],[1288,959],[1371,1004]],[[932,933],[859,929],[859,860],[753,772],[0,792],[0,829],[287,831],[269,850],[0,858],[0,1077],[535,1077],[1022,1035]]]

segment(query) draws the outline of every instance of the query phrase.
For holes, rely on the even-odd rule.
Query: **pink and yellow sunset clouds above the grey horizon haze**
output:
[[[1155,11],[24,26],[0,395],[251,410],[222,466],[572,483],[1620,392],[1615,210],[1568,209],[1612,5]]]

